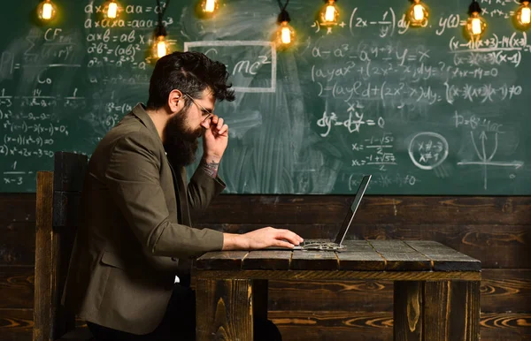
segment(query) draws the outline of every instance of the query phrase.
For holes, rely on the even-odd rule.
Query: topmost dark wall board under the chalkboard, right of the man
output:
[[[219,195],[201,217],[208,224],[341,224],[347,196]],[[366,195],[361,224],[530,224],[531,197]]]

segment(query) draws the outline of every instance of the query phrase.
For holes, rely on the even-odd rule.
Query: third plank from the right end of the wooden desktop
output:
[[[385,260],[374,251],[366,240],[345,240],[341,252],[337,252],[340,270],[382,271]]]

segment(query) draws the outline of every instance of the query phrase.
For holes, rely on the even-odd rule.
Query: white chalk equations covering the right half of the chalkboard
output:
[[[496,4],[492,2],[493,7]],[[493,7],[484,14],[493,18],[512,15],[506,9]],[[421,175],[426,172],[417,176],[408,174],[407,180],[389,177],[389,173],[398,173],[404,163],[421,171],[435,172],[438,178],[448,178],[449,167],[445,163],[452,152],[458,151],[466,157],[457,158],[450,167],[483,167],[484,190],[489,186],[489,170],[512,170],[506,178],[510,181],[524,164],[499,155],[500,146],[513,143],[501,123],[503,118],[493,117],[491,113],[480,117],[470,114],[471,110],[463,113],[461,108],[466,103],[471,109],[486,103],[510,105],[526,94],[525,83],[515,82],[516,77],[507,75],[519,69],[531,54],[527,34],[492,33],[477,42],[468,42],[458,31],[466,25],[466,17],[449,14],[430,20],[435,36],[441,36],[437,39],[443,39],[445,55],[426,42],[412,45],[402,39],[391,39],[412,30],[404,15],[393,8],[382,9],[379,17],[374,16],[374,11],[355,7],[350,17],[345,17],[336,27],[319,27],[318,21],[311,26],[313,33],[322,38],[305,46],[305,54],[310,59],[306,77],[313,85],[314,95],[335,103],[333,112],[315,115],[313,123],[323,140],[335,141],[339,135],[351,135],[351,148],[343,149],[344,155],[350,155],[350,162],[344,160],[349,165],[345,168],[350,168],[350,178],[345,181],[349,188],[356,188],[351,178],[363,173],[358,170],[380,175],[376,177],[380,179],[376,186],[422,186]],[[364,38],[364,32],[371,27],[377,28],[380,39]],[[337,38],[338,32],[343,39]],[[335,39],[329,39],[330,36]],[[448,108],[447,116],[440,123],[444,126],[443,133],[437,133],[437,129],[415,131],[414,120],[408,122],[410,118],[427,118],[429,108],[442,106]],[[364,119],[364,113],[374,112],[375,108],[386,115]],[[433,117],[434,121],[436,118],[439,117]],[[397,126],[403,126],[409,133],[396,139],[396,133],[402,133],[396,132]],[[449,143],[444,135],[452,130],[455,133],[451,137],[459,134],[462,144]],[[374,140],[378,143],[373,143]],[[469,153],[460,150],[463,144]],[[396,150],[404,149],[409,157],[398,158]]]

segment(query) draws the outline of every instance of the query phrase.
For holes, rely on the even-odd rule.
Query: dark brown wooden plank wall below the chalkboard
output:
[[[197,227],[266,225],[333,238],[346,196],[224,195]],[[350,239],[432,239],[482,261],[481,340],[531,341],[531,197],[366,196]],[[0,193],[0,340],[33,328],[35,193]],[[270,318],[290,340],[389,340],[389,282],[272,281]]]

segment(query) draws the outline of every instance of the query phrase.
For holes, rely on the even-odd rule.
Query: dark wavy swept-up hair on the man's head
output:
[[[215,62],[200,52],[173,52],[158,59],[150,79],[149,109],[165,106],[174,89],[198,98],[205,88],[210,87],[219,101],[235,100],[234,90],[227,84],[228,72],[225,64]],[[187,105],[188,99],[184,98]]]

